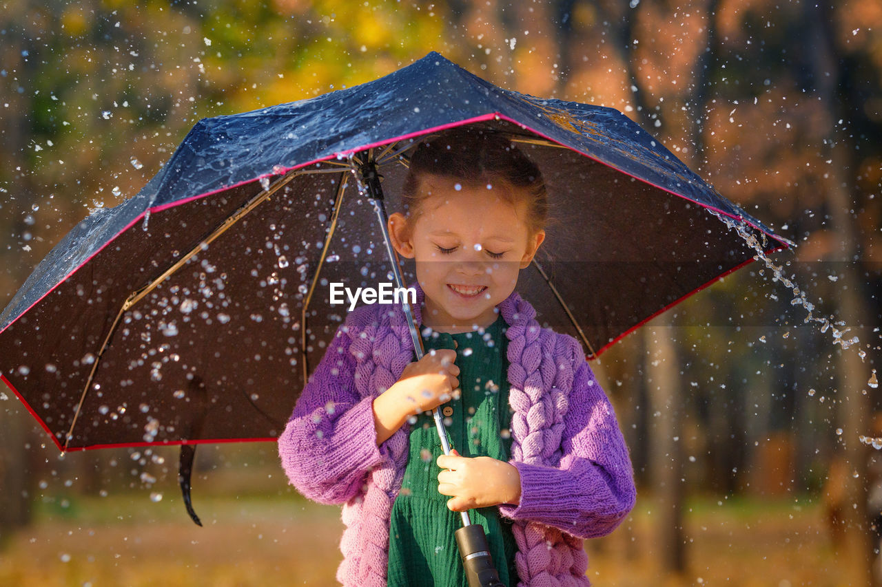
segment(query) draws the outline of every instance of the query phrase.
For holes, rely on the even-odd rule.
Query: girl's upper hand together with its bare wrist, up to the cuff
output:
[[[450,401],[460,387],[460,368],[453,364],[456,351],[430,351],[407,365],[392,387],[373,401],[377,446],[404,425],[409,416],[427,412]]]

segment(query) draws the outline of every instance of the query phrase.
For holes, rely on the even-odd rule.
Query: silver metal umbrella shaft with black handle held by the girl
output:
[[[377,173],[377,162],[373,160],[371,152],[359,153],[362,160],[359,168],[359,188],[364,194],[370,198],[374,204],[374,211],[377,212],[377,221],[380,231],[383,233],[383,241],[385,243],[386,252],[392,262],[392,277],[395,281],[395,287],[404,288],[404,280],[401,278],[401,269],[398,263],[398,255],[392,248],[392,241],[389,239],[388,216],[385,212],[385,201],[383,198],[383,188],[380,186],[380,175]],[[407,325],[410,326],[410,337],[414,342],[416,352],[416,360],[422,359],[425,351],[422,348],[422,338],[420,338],[419,330],[414,322],[414,313],[407,301],[407,295],[402,296],[404,314],[407,316]],[[435,419],[435,427],[437,428],[438,437],[441,439],[441,448],[445,455],[450,455],[450,440],[447,437],[447,428],[445,428],[444,420],[441,417],[441,409],[436,407],[432,410],[432,416]],[[466,570],[466,577],[469,587],[505,587],[499,581],[499,574],[493,565],[493,559],[490,556],[490,547],[487,546],[487,536],[484,534],[484,528],[481,524],[472,524],[468,512],[460,512],[462,516],[462,528],[454,532],[456,544],[460,549],[460,559],[462,566]]]

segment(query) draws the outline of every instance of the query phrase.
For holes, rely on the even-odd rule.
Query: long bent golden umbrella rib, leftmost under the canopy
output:
[[[310,173],[310,172],[305,172]],[[313,172],[314,173],[314,172]],[[338,172],[339,173],[339,172]],[[104,344],[101,345],[101,350],[98,351],[98,354],[95,356],[95,360],[92,365],[92,371],[89,373],[88,378],[86,379],[86,385],[83,388],[83,393],[79,398],[79,403],[77,405],[77,411],[73,414],[73,420],[71,420],[71,428],[68,430],[67,436],[64,439],[64,450],[63,453],[67,451],[68,446],[70,445],[71,438],[73,438],[73,428],[77,425],[77,420],[79,418],[79,412],[83,408],[83,404],[86,402],[86,393],[89,391],[89,387],[92,385],[93,378],[95,376],[95,372],[98,370],[98,364],[101,362],[101,356],[104,354],[104,351],[107,350],[108,346],[110,346],[110,338],[113,337],[116,332],[116,327],[119,325],[119,320],[123,316],[126,310],[134,306],[138,301],[144,298],[146,294],[149,294],[153,291],[153,289],[161,284],[165,279],[167,279],[172,273],[183,267],[187,261],[189,261],[193,256],[195,256],[200,250],[204,250],[207,245],[217,239],[221,234],[225,233],[229,227],[232,227],[239,219],[242,219],[243,216],[254,210],[265,200],[269,199],[275,192],[279,191],[279,189],[283,188],[288,182],[291,182],[298,175],[304,175],[303,170],[297,170],[288,175],[284,175],[280,177],[276,182],[274,182],[267,189],[261,190],[257,196],[252,197],[247,203],[243,204],[236,210],[233,215],[228,216],[226,219],[221,222],[221,225],[215,227],[211,234],[209,234],[206,238],[199,241],[199,243],[193,247],[190,252],[186,255],[182,256],[179,260],[176,261],[175,264],[172,264],[166,271],[163,271],[162,274],[153,279],[146,286],[141,287],[140,289],[129,294],[129,297],[123,302],[123,306],[119,308],[119,311],[116,313],[116,318],[113,323],[110,325],[110,330],[108,331],[107,337],[104,338]]]

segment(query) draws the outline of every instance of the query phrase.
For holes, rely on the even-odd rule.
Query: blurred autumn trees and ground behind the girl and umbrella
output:
[[[595,361],[639,497],[587,541],[592,582],[882,584],[879,0],[0,5],[0,306],[206,116],[431,50],[508,89],[619,108],[796,241],[774,263],[859,342],[805,323],[760,262]],[[289,487],[273,443],[200,448],[197,528],[175,447],[59,456],[5,388],[0,442],[0,584],[334,583],[340,510]]]

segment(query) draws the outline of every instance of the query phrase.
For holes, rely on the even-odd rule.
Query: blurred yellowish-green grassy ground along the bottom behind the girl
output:
[[[214,473],[207,479],[218,480]],[[205,480],[197,485],[205,486]],[[288,488],[265,489],[194,490],[202,528],[186,516],[174,483],[159,502],[145,490],[47,495],[34,524],[0,551],[0,585],[336,584],[340,510]],[[622,527],[587,542],[594,584],[848,584],[815,502],[691,498],[684,521],[688,568],[681,575],[662,573],[656,560],[656,511],[652,499],[641,496]]]

